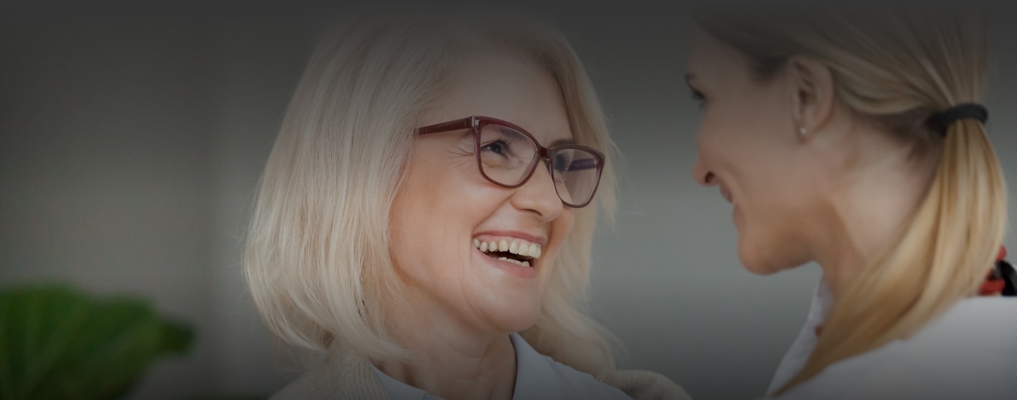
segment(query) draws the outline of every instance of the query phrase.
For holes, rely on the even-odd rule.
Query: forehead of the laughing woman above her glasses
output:
[[[572,137],[561,89],[535,63],[505,52],[475,52],[452,72],[447,91],[425,116],[426,124],[484,116],[516,124],[542,144]]]

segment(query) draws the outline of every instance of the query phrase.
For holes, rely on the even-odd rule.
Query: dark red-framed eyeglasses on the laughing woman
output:
[[[604,154],[589,146],[565,143],[547,148],[519,126],[478,116],[417,128],[415,133],[426,135],[460,129],[471,130],[480,175],[495,185],[523,186],[533,176],[537,163],[544,160],[564,205],[585,207],[597,192]]]

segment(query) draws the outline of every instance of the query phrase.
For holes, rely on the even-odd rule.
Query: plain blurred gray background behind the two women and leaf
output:
[[[194,324],[192,351],[157,362],[132,398],[278,390],[292,374],[244,291],[241,238],[318,28],[346,9],[69,7],[0,10],[0,285],[135,293]],[[594,248],[595,316],[627,366],[701,399],[761,394],[819,270],[745,272],[730,206],[693,182],[682,11],[547,13],[593,69],[625,155],[617,223]],[[1017,48],[1004,37],[985,103],[1015,188]]]

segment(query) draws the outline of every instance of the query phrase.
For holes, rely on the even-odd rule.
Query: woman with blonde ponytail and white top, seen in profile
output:
[[[984,24],[934,5],[696,19],[696,179],[733,204],[745,268],[823,269],[771,394],[1015,398],[1017,301],[978,296],[1013,292]]]

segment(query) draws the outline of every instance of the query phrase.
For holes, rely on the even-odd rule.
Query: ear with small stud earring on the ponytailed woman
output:
[[[833,117],[833,73],[818,60],[802,56],[789,58],[785,71],[793,94],[791,112],[796,128],[818,131]]]

